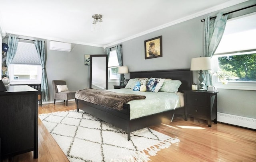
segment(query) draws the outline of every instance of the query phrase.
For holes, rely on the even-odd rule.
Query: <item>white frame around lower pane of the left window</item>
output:
[[[25,66],[38,66],[37,74],[38,79],[35,80],[16,80],[14,78],[14,65],[25,65]],[[42,83],[42,66],[38,64],[10,64],[8,66],[10,84],[41,84]]]

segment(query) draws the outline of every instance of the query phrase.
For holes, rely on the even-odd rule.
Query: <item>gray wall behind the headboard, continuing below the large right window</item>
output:
[[[130,71],[190,68],[191,59],[203,56],[204,23],[201,19],[219,12],[230,12],[255,4],[248,1],[205,16],[194,18],[122,43],[124,65]],[[251,12],[256,7],[229,14],[234,18]],[[162,35],[163,57],[144,59],[144,41]],[[193,72],[194,82],[198,74]],[[125,78],[129,78],[126,74]],[[256,91],[219,89],[218,112],[256,118]]]

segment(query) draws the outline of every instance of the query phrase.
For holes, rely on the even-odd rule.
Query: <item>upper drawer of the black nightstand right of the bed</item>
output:
[[[187,94],[187,104],[197,106],[207,106],[207,96]]]

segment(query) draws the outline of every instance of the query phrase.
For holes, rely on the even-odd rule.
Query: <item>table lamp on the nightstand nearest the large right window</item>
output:
[[[199,78],[200,81],[200,88],[198,90],[206,90],[205,84],[204,84],[204,73],[202,70],[212,70],[212,64],[211,64],[211,58],[210,57],[197,57],[193,58],[191,60],[191,71],[198,71],[199,72]]]

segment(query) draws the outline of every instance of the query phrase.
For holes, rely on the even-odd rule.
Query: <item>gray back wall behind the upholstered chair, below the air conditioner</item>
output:
[[[90,66],[84,65],[84,55],[103,55],[102,47],[72,44],[70,52],[49,50],[47,40],[46,72],[50,101],[53,101],[52,80],[66,80],[68,90],[89,87]]]

